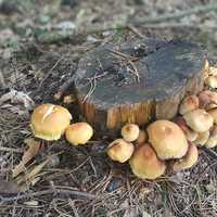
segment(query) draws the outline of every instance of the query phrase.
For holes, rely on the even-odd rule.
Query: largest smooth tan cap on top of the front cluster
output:
[[[188,150],[187,138],[181,128],[169,120],[156,120],[149,125],[149,142],[161,159],[180,158]]]

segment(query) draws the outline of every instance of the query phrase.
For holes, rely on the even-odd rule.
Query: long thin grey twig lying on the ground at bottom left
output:
[[[18,200],[24,200],[33,196],[41,196],[41,195],[47,195],[47,194],[62,194],[62,195],[71,195],[71,196],[80,196],[80,197],[86,197],[89,200],[97,199],[94,194],[88,193],[88,192],[81,192],[81,191],[76,191],[76,190],[66,190],[66,189],[49,189],[49,190],[43,190],[39,192],[34,192],[34,193],[24,193],[21,195],[16,195],[13,197],[3,197],[0,196],[0,203],[5,203],[5,202],[13,202],[13,201],[18,201]]]

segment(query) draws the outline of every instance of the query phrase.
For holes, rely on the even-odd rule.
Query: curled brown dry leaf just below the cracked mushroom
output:
[[[25,143],[27,144],[28,150],[24,153],[20,164],[16,165],[13,169],[13,178],[24,171],[25,165],[38,153],[38,150],[40,148],[40,142],[34,140],[33,138],[26,139]]]

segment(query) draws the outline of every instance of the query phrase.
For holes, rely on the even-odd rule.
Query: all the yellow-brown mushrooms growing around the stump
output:
[[[206,62],[205,84],[217,88],[217,68]],[[58,140],[64,133],[73,144],[86,144],[93,135],[87,123],[71,124],[72,115],[63,106],[42,104],[35,108],[30,127],[37,138]],[[166,169],[179,171],[195,165],[199,148],[217,146],[217,92],[203,90],[186,97],[174,122],[159,119],[146,129],[126,124],[106,149],[111,159],[129,162],[132,173],[141,179],[156,179]]]

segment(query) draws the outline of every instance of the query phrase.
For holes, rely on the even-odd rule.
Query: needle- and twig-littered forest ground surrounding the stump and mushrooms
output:
[[[72,95],[69,105],[54,95],[73,77],[88,50],[129,36],[181,38],[203,44],[215,62],[217,10],[162,18],[165,13],[210,3],[216,7],[216,0],[0,1],[0,216],[217,216],[217,157],[203,150],[192,169],[148,181],[136,178],[127,164],[108,159],[104,149],[112,138],[94,138],[81,148],[68,145],[64,139],[41,141],[21,176],[22,184],[12,178],[26,149],[25,139],[33,137],[33,107],[46,102],[63,104],[74,120],[82,119],[71,88],[63,94]],[[123,23],[142,17],[159,18],[123,27]],[[22,93],[22,99],[1,102],[2,95],[13,91]]]

